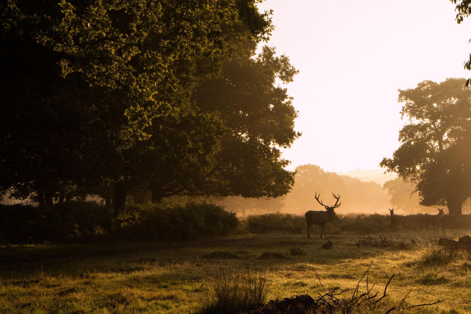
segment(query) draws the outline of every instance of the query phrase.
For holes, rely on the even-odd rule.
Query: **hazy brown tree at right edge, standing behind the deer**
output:
[[[399,101],[409,124],[380,165],[414,183],[421,205],[447,205],[450,215],[461,215],[471,196],[471,90],[464,79],[424,81],[399,90]]]

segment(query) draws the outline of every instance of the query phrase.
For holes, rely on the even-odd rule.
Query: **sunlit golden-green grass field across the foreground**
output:
[[[215,269],[266,271],[268,299],[369,285],[388,297],[369,312],[444,302],[401,313],[471,313],[471,261],[425,261],[424,246],[441,235],[399,232],[410,249],[346,246],[359,234],[332,235],[333,249],[305,235],[232,235],[195,241],[44,244],[0,247],[0,313],[199,313]],[[470,234],[455,231],[453,236]],[[392,236],[389,231],[383,236]],[[414,239],[417,244],[412,245]],[[300,248],[305,255],[291,255]],[[229,253],[227,255],[227,252]],[[281,253],[269,255],[264,253]],[[229,258],[227,258],[229,257]],[[262,258],[265,257],[265,258]],[[271,257],[271,258],[270,258]],[[364,281],[361,283],[364,286]],[[362,288],[360,288],[361,290]],[[392,312],[398,313],[398,312]]]

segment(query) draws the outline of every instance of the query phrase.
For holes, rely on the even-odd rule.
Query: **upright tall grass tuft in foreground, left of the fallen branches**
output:
[[[267,272],[234,271],[220,266],[211,269],[205,282],[203,313],[231,313],[260,306],[267,301],[269,283]]]

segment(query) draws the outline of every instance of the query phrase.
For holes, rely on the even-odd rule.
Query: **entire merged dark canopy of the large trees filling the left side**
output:
[[[114,194],[115,211],[136,185],[155,201],[285,194],[279,147],[300,133],[276,83],[297,70],[274,48],[254,55],[273,29],[255,2],[0,4],[0,190]]]

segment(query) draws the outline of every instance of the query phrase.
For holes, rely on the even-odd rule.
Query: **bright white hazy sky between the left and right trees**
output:
[[[398,148],[398,89],[468,77],[471,17],[449,0],[266,0],[268,45],[300,70],[287,85],[300,139],[283,157],[327,171],[379,169]]]

